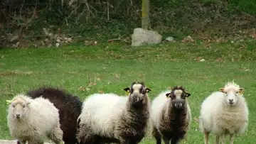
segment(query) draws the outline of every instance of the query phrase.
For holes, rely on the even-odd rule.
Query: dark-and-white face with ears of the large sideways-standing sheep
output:
[[[130,100],[132,104],[143,103],[146,97],[146,93],[150,92],[151,89],[145,86],[142,82],[133,82],[131,87],[127,87],[124,91],[129,92]]]

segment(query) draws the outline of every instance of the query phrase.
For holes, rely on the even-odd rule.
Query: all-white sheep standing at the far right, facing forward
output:
[[[213,92],[201,105],[199,128],[204,133],[204,143],[208,144],[210,133],[215,134],[215,144],[225,143],[225,135],[230,135],[234,143],[235,133],[247,129],[249,110],[240,88],[235,82],[227,82],[219,92]]]

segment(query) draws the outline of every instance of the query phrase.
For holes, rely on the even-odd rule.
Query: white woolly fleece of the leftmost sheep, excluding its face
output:
[[[31,138],[42,141],[59,125],[58,109],[42,97],[31,99],[23,94],[17,96],[22,96],[19,98],[21,101],[31,101],[31,104],[26,106],[28,111],[20,121],[14,118],[13,106],[9,105],[7,122],[11,135],[19,140]],[[61,132],[60,134],[63,135]]]

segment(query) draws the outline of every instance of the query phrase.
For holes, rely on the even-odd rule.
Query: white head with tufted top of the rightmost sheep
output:
[[[238,96],[242,96],[244,88],[240,88],[235,82],[228,82],[225,84],[225,87],[220,88],[219,90],[225,94],[225,102],[228,105],[233,106],[237,104]]]

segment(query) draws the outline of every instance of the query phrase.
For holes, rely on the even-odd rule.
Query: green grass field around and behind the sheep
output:
[[[176,84],[186,87],[193,121],[182,143],[203,143],[198,131],[201,102],[211,92],[235,80],[245,88],[250,110],[246,133],[235,143],[254,144],[256,136],[255,42],[169,43],[130,48],[121,44],[0,50],[0,139],[14,139],[6,124],[6,99],[41,85],[61,87],[83,100],[97,92],[125,94],[133,81],[152,89],[151,99]],[[200,62],[201,59],[205,61]],[[142,143],[155,143],[146,136]],[[213,137],[210,137],[213,143]]]

